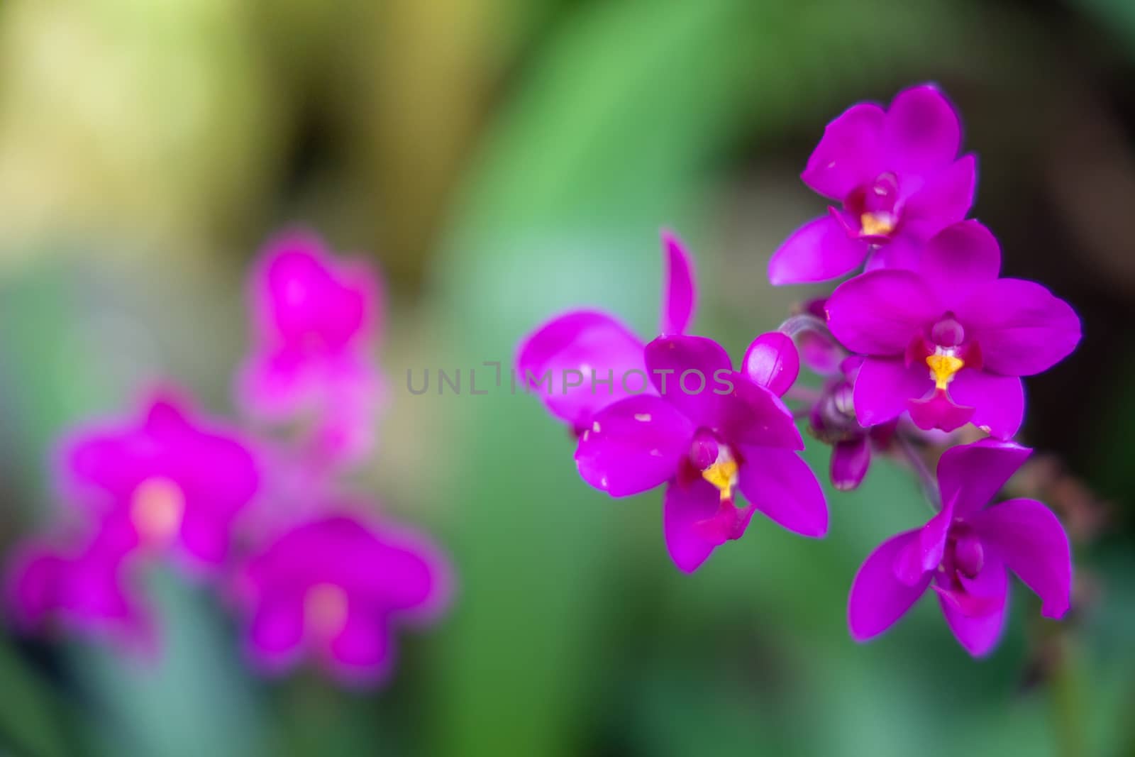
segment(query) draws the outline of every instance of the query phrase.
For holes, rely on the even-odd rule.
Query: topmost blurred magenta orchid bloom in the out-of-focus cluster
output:
[[[334,260],[312,234],[269,242],[251,280],[257,346],[238,377],[241,404],[274,422],[314,417],[329,455],[365,454],[382,393],[369,354],[380,292],[365,263]]]

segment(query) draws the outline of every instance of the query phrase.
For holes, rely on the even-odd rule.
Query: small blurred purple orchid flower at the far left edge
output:
[[[120,533],[36,539],[9,562],[7,600],[17,628],[45,626],[108,639],[131,651],[152,650],[151,619],[129,587],[133,545]]]

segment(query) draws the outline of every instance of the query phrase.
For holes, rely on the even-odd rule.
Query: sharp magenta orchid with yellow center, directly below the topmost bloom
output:
[[[1025,410],[1022,376],[1079,342],[1076,312],[1032,281],[998,278],[1001,250],[977,221],[934,236],[918,271],[877,270],[827,301],[832,334],[866,355],[855,381],[863,426],[910,412],[922,429],[973,422],[1007,439]]]

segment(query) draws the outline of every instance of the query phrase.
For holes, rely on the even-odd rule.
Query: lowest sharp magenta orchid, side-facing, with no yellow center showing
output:
[[[1034,499],[985,506],[1031,452],[984,439],[942,455],[942,511],[880,545],[855,577],[848,625],[857,641],[889,629],[930,587],[961,646],[975,657],[986,655],[1004,626],[1006,569],[1041,598],[1044,617],[1068,612],[1071,549],[1057,516]]]

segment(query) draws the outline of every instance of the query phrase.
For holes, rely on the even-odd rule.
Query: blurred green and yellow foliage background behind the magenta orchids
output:
[[[1016,485],[1073,532],[1066,623],[1018,583],[989,659],[928,600],[852,642],[856,567],[925,520],[897,464],[831,493],[827,539],[758,519],[687,577],[661,497],[586,487],[535,398],[406,390],[507,364],[573,304],[650,333],[661,226],[739,358],[810,294],[764,270],[822,209],[798,174],[824,124],[922,81],[962,112],[1006,274],[1083,314],[1027,384],[1046,456]],[[0,754],[1135,754],[1133,81],[1128,0],[5,0],[0,545],[65,506],[68,426],[163,379],[232,412],[246,267],[303,224],[386,272],[389,404],[354,485],[437,535],[460,592],[354,693],[257,679],[208,589],[155,575],[157,664],[3,632]]]

